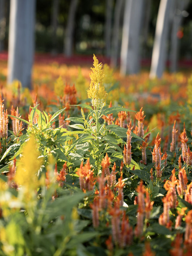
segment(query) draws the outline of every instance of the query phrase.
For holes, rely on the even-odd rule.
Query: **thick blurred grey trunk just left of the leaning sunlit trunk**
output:
[[[120,73],[136,74],[139,71],[140,25],[143,0],[126,0],[122,32]]]

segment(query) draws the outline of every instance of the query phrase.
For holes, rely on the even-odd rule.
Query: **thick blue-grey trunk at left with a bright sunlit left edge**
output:
[[[34,55],[35,0],[11,0],[8,45],[8,83],[14,79],[31,88]]]

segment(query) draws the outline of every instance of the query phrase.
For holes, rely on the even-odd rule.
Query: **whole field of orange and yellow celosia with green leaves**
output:
[[[192,79],[43,68],[1,69],[1,255],[192,255]]]

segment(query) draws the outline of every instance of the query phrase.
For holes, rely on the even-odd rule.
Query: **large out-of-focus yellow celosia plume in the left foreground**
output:
[[[16,184],[21,186],[19,192],[23,195],[23,201],[25,202],[29,202],[35,196],[37,188],[41,185],[37,176],[41,166],[41,160],[38,159],[38,156],[35,139],[30,137],[23,148],[22,158],[17,166],[14,178]]]

